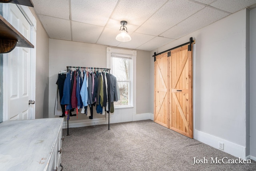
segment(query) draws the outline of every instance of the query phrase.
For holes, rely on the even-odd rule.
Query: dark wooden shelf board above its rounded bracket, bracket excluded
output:
[[[2,40],[17,40],[17,47],[34,48],[18,30],[16,30],[3,16],[0,15],[0,39]],[[2,52],[0,52],[2,53]]]

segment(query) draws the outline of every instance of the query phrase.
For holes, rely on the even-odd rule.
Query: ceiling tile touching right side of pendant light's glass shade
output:
[[[131,41],[121,42],[118,45],[118,47],[136,49],[138,46],[141,46],[142,44],[148,42],[149,40],[151,40],[155,37],[155,36],[150,36],[150,35],[140,34],[140,33],[133,33],[130,36],[132,38]]]

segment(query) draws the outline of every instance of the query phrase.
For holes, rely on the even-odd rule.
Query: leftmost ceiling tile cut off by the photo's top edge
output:
[[[37,14],[69,20],[68,0],[32,0]]]

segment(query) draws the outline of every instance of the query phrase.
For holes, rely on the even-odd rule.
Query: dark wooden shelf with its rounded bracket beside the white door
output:
[[[16,46],[34,48],[34,45],[0,15],[0,53],[11,52]]]

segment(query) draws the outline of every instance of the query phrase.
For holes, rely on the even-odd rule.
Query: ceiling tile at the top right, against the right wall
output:
[[[217,0],[210,6],[234,13],[253,4],[256,4],[256,0]]]

